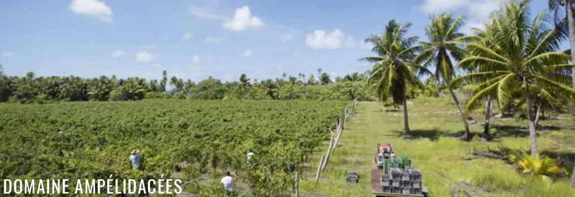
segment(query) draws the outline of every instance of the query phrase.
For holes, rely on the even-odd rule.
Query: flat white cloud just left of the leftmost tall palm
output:
[[[337,49],[342,47],[345,39],[346,37],[339,29],[328,33],[324,30],[315,30],[305,37],[305,45],[314,49]]]

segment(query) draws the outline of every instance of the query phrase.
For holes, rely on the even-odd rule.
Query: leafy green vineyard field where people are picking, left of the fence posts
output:
[[[178,172],[186,190],[232,171],[255,196],[293,185],[293,172],[328,139],[348,102],[72,102],[0,105],[0,176],[6,179],[158,179]],[[352,107],[352,106],[351,106]],[[129,152],[140,149],[143,168]],[[246,153],[254,150],[254,162]],[[70,188],[73,190],[74,188]]]

